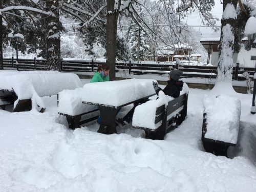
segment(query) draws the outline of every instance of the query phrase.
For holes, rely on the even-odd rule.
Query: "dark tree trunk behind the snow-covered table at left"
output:
[[[58,0],[46,0],[46,11],[52,15],[46,17],[47,28],[47,70],[60,70],[60,22]]]

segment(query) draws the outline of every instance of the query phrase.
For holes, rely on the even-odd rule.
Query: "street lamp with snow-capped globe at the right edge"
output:
[[[253,43],[253,41],[256,38],[256,28],[255,28],[255,24],[256,24],[256,18],[255,17],[250,17],[247,20],[247,23],[245,25],[245,30],[244,33],[247,34],[248,39],[251,43]],[[256,60],[256,56],[251,56],[251,60]],[[255,108],[255,94],[256,94],[256,63],[255,63],[255,73],[253,76],[253,95],[252,95],[252,105],[251,105],[251,114],[255,114],[256,113],[256,108]]]

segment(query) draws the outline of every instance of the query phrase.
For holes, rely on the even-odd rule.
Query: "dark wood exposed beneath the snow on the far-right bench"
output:
[[[236,146],[233,143],[227,143],[223,141],[218,141],[214,139],[205,138],[205,133],[207,132],[207,114],[204,112],[203,115],[203,126],[202,126],[202,142],[206,152],[215,154],[217,156],[226,156],[227,157],[227,150],[230,146]]]

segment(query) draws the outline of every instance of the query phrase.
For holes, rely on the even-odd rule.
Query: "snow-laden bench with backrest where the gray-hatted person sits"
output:
[[[187,115],[188,87],[184,83],[181,95],[173,98],[159,92],[157,100],[138,105],[133,115],[133,127],[145,131],[146,139],[163,139],[179,126]]]

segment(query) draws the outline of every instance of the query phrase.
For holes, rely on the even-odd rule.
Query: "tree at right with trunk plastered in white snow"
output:
[[[218,77],[231,87],[233,54],[240,50],[240,41],[249,16],[256,16],[256,8],[241,0],[224,0],[221,19],[221,44],[219,48]]]

